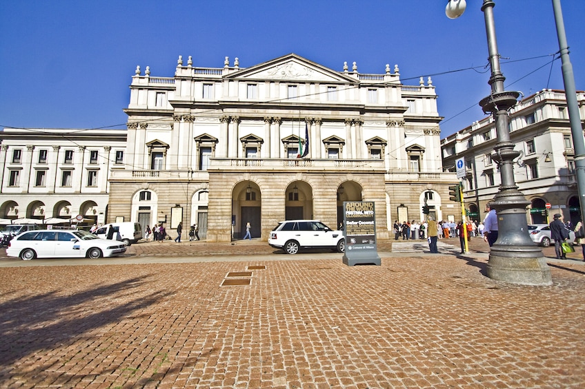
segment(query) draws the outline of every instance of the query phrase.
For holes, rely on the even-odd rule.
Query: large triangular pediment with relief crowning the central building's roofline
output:
[[[328,67],[309,61],[297,54],[288,54],[272,61],[247,67],[232,73],[228,78],[250,80],[310,81],[319,83],[357,83],[355,78],[335,72]]]

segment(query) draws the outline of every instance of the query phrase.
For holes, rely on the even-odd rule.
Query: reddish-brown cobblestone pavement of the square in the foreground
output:
[[[585,387],[579,246],[537,287],[485,277],[479,238],[469,255],[391,245],[351,267],[255,240],[134,244],[95,266],[0,255],[0,387]]]

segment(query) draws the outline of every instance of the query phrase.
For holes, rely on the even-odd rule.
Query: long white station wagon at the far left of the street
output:
[[[23,260],[55,257],[112,257],[126,252],[126,244],[99,239],[87,231],[37,230],[17,235],[8,244],[6,255]]]

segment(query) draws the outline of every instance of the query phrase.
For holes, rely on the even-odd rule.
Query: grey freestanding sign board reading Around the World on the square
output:
[[[373,201],[344,202],[344,264],[381,265],[376,244],[376,212]]]

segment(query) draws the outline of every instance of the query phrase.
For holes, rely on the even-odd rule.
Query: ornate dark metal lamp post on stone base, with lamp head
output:
[[[450,19],[461,16],[465,10],[464,0],[450,0],[446,14]],[[508,109],[516,105],[519,92],[504,91],[506,79],[500,70],[499,54],[493,18],[493,0],[484,0],[482,11],[486,21],[488,52],[491,76],[490,96],[479,102],[486,114],[493,114],[497,143],[493,159],[499,164],[502,185],[494,196],[492,207],[497,213],[498,238],[490,249],[488,277],[515,284],[551,285],[551,269],[542,256],[542,250],[528,235],[526,207],[530,204],[514,180],[513,160],[519,156],[510,141]]]

